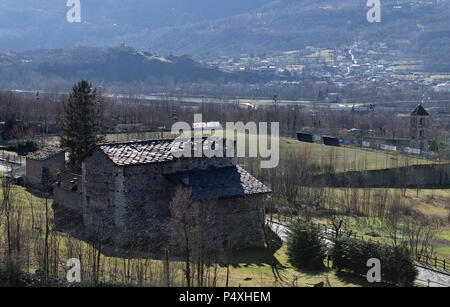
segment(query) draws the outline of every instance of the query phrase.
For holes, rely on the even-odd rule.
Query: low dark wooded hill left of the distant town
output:
[[[251,73],[225,73],[189,56],[161,57],[131,47],[0,51],[0,85],[16,88],[67,86],[80,79],[96,84],[177,84],[254,81]],[[137,84],[136,83],[136,84]]]

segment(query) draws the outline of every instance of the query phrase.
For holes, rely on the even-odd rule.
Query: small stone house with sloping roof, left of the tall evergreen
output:
[[[39,186],[42,183],[44,169],[47,169],[50,179],[55,181],[57,174],[64,170],[65,164],[65,149],[49,146],[32,152],[26,157],[25,182],[29,185]]]

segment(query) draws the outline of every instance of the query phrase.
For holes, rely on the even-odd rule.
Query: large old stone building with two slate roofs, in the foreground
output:
[[[172,139],[99,145],[83,161],[81,183],[68,176],[71,182],[55,187],[55,203],[82,216],[89,234],[119,244],[142,237],[164,242],[169,203],[181,187],[207,206],[221,247],[263,246],[263,203],[270,190],[234,157],[177,158],[182,147]]]

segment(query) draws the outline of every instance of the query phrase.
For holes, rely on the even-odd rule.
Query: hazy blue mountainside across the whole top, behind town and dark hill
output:
[[[307,45],[384,41],[450,67],[449,0],[382,0],[382,22],[366,0],[80,0],[82,23],[64,0],[2,0],[0,49],[119,46],[196,59],[262,54]],[[398,44],[401,41],[402,44]]]

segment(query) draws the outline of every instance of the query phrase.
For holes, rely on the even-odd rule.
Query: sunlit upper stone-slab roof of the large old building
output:
[[[111,143],[102,144],[98,148],[103,151],[118,166],[140,165],[148,163],[162,163],[177,159],[174,151],[184,149],[187,140],[180,141],[175,139],[151,140],[129,143]],[[212,142],[203,138],[203,146]],[[199,142],[192,142],[197,146]],[[193,154],[192,154],[193,156]]]

